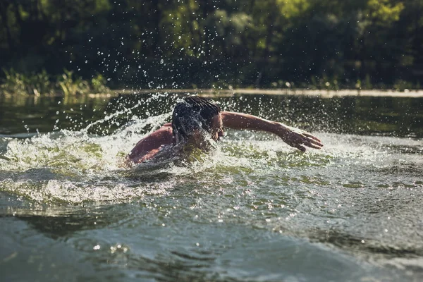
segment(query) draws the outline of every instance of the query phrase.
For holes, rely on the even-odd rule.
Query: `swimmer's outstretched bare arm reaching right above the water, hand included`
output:
[[[250,129],[274,133],[275,135],[281,137],[283,142],[286,142],[286,144],[291,147],[300,149],[302,152],[305,152],[305,146],[314,149],[320,149],[323,147],[319,138],[314,135],[276,121],[269,121],[250,114],[235,113],[232,111],[222,111],[221,118],[224,127],[238,130]]]

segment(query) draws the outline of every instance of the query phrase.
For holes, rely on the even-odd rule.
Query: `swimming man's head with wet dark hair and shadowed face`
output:
[[[203,131],[218,140],[223,135],[220,111],[220,106],[212,99],[185,97],[173,109],[172,129],[176,142],[189,140]]]

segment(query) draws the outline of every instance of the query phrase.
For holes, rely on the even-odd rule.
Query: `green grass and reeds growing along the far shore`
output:
[[[45,70],[40,73],[18,73],[12,69],[4,69],[5,78],[0,79],[0,96],[54,96],[61,95],[65,97],[75,97],[81,94],[106,94],[111,90],[106,86],[106,79],[103,75],[97,74],[91,80],[84,80],[73,73],[73,71],[63,70],[61,75],[49,75]],[[232,85],[230,82],[218,81],[210,85],[209,89],[218,93],[221,90],[235,89],[257,89],[257,87]],[[192,85],[192,89],[197,89],[197,85]],[[206,87],[207,88],[207,87]],[[271,82],[269,85],[263,85],[262,90],[393,90],[396,92],[408,92],[409,90],[419,90],[419,82],[413,84],[405,80],[396,80],[393,85],[372,84],[369,75],[364,80],[338,80],[324,76],[322,78],[312,77],[309,82],[295,83],[286,80]],[[123,91],[124,92],[124,91]]]

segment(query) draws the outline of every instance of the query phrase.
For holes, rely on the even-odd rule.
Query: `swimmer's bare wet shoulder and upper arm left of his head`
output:
[[[135,164],[142,163],[154,157],[162,145],[171,145],[173,143],[172,124],[166,123],[158,130],[150,133],[137,142],[137,145],[126,156],[126,164],[131,162]]]

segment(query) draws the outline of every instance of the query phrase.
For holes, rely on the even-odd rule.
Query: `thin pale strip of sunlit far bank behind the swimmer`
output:
[[[294,95],[312,97],[407,97],[422,98],[423,90],[405,90],[404,92],[394,90],[308,90],[308,89],[159,89],[159,90],[116,90],[117,94],[142,94],[152,92],[171,93],[198,93],[204,97],[228,97],[236,94],[271,94],[271,95]]]

